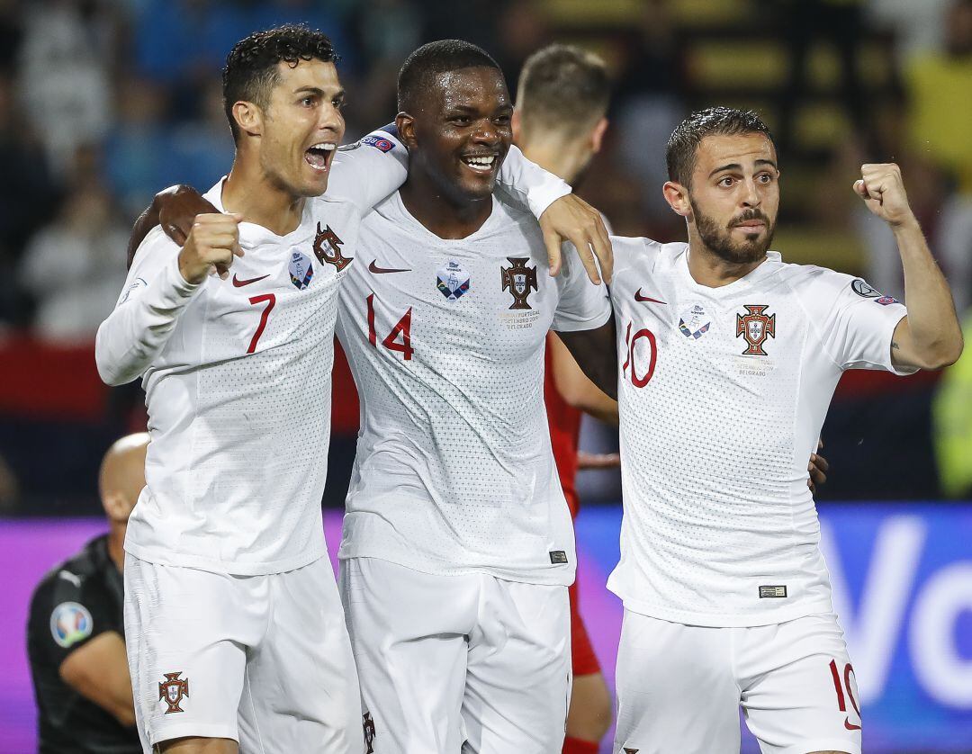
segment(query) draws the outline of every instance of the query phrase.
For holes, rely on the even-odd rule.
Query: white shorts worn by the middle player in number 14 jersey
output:
[[[365,751],[550,754],[571,690],[567,587],[341,562]]]

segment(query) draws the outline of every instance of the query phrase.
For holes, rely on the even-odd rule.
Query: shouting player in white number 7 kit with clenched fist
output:
[[[237,152],[206,194],[216,212],[195,218],[181,249],[161,227],[138,244],[98,333],[106,382],[145,373],[153,434],[125,567],[146,750],[362,747],[320,498],[337,290],[354,269],[362,212],[400,183],[404,149],[372,134],[357,145],[367,149],[333,161],[344,130],[333,61],[324,35],[293,26],[230,52]],[[330,172],[351,163],[350,178],[321,196]],[[548,243],[559,252],[566,217],[589,254],[585,240],[601,229],[584,221],[596,214],[573,197],[544,212],[542,196],[554,197],[549,182],[540,188],[527,201],[554,233]]]

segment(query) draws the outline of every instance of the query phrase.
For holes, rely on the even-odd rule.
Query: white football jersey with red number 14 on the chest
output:
[[[538,223],[499,195],[445,240],[395,193],[364,218],[359,257],[337,318],[361,398],[339,557],[570,584],[544,342],[604,325],[607,291],[573,257],[551,278]]]

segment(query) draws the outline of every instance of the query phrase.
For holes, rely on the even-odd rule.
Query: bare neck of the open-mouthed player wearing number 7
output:
[[[223,185],[223,208],[236,212],[246,223],[262,225],[277,235],[293,233],[300,224],[304,202],[277,186],[257,160],[237,159]]]

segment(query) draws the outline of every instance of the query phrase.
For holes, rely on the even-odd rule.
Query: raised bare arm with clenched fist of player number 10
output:
[[[891,362],[921,369],[955,363],[962,353],[962,331],[952,291],[908,203],[900,168],[893,163],[862,165],[861,180],[853,188],[890,226],[904,267],[908,314],[894,329]]]

